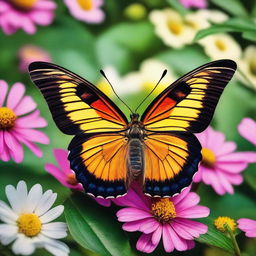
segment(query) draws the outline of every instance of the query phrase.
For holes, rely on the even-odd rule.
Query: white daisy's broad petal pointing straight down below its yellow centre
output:
[[[15,254],[31,255],[36,246],[31,238],[19,235],[18,239],[13,243],[12,250]]]

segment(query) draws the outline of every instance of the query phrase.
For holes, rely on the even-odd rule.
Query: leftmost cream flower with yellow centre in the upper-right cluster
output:
[[[156,34],[168,46],[180,48],[191,43],[195,36],[194,29],[173,9],[152,11],[149,19],[155,26]]]

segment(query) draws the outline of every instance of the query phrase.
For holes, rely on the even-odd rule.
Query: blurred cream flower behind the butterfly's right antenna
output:
[[[143,61],[139,71],[127,74],[124,77],[124,80],[126,84],[132,84],[138,88],[139,91],[146,91],[148,93],[154,88],[165,69],[167,69],[168,72],[154,91],[154,95],[158,95],[167,86],[175,81],[175,76],[172,70],[161,61],[156,59],[148,59]]]

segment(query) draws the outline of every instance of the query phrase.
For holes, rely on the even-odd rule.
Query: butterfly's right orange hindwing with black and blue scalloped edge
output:
[[[188,187],[201,161],[201,145],[186,132],[152,133],[145,141],[144,192],[169,197]]]

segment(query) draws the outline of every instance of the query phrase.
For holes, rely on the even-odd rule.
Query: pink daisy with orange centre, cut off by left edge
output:
[[[0,159],[16,163],[23,160],[22,144],[37,157],[43,153],[35,142],[49,144],[49,138],[35,128],[47,126],[47,122],[36,110],[36,103],[30,96],[24,96],[25,86],[15,83],[9,91],[5,81],[0,80]]]

